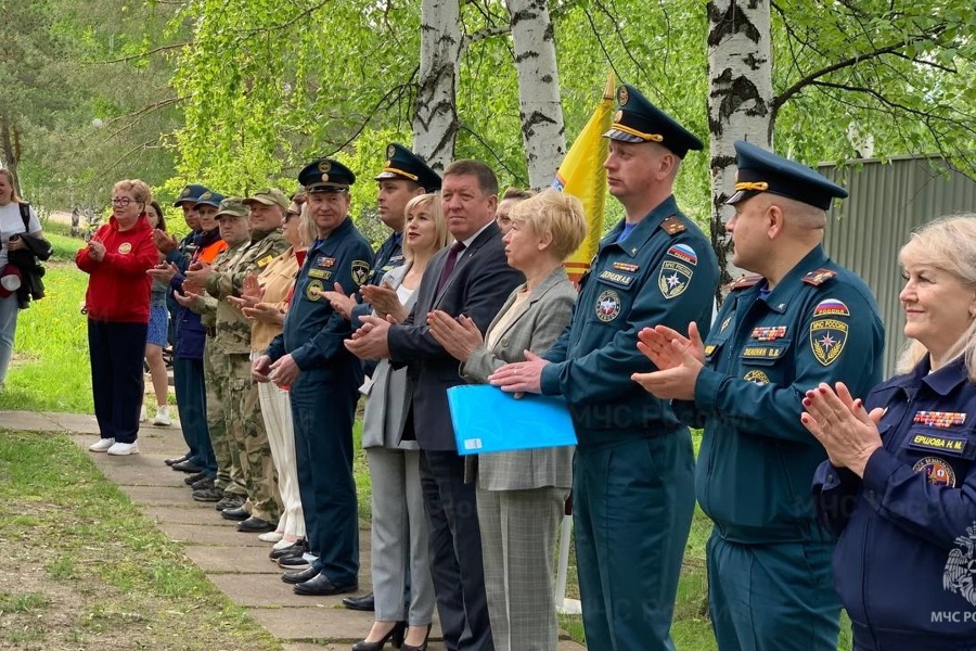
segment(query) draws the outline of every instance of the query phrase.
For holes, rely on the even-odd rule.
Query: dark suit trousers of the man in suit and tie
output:
[[[493,651],[474,484],[454,451],[421,451],[431,574],[448,651]]]

